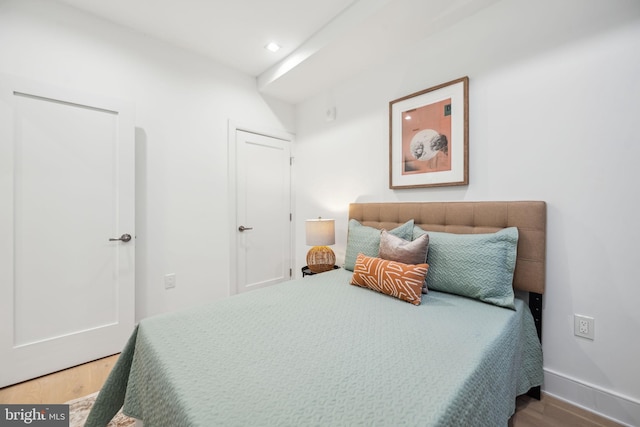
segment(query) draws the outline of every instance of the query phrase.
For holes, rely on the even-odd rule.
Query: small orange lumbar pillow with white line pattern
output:
[[[351,284],[420,305],[428,264],[403,264],[358,254]]]

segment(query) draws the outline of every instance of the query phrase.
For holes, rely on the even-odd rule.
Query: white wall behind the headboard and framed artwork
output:
[[[504,0],[297,108],[297,260],[305,218],[354,201],[545,200],[545,385],[640,425],[640,3]],[[470,183],[388,189],[388,105],[470,78]],[[337,119],[325,121],[336,107]],[[573,314],[595,317],[595,340]]]

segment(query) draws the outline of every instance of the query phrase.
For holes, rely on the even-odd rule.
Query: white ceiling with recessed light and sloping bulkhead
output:
[[[256,77],[296,104],[498,0],[58,0]],[[264,46],[275,41],[282,49]]]

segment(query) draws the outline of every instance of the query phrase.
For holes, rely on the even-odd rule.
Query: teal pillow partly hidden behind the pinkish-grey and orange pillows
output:
[[[344,256],[344,269],[353,271],[358,254],[377,258],[380,251],[380,233],[382,230],[360,224],[355,219],[349,220],[349,232],[347,234],[347,250]],[[409,220],[397,226],[389,233],[394,236],[411,240],[413,237],[413,220]]]

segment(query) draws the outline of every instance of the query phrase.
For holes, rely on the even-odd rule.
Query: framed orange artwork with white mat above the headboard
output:
[[[469,183],[469,78],[389,103],[389,188]]]

